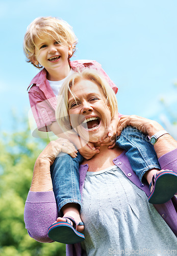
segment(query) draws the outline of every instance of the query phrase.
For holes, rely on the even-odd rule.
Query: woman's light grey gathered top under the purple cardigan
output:
[[[81,219],[83,255],[172,255],[177,239],[144,191],[117,166],[87,172]],[[148,235],[147,235],[148,234]]]

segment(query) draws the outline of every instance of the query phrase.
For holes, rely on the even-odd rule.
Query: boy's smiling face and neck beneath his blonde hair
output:
[[[43,33],[40,38],[35,38],[35,56],[32,61],[35,65],[40,63],[47,72],[49,80],[64,79],[70,70],[68,56],[72,55],[72,47],[60,44],[53,36]]]

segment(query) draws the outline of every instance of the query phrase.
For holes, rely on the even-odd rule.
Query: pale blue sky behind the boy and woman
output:
[[[176,12],[176,0],[0,1],[0,129],[12,131],[12,112],[28,115],[27,88],[38,70],[26,62],[22,42],[39,16],[60,17],[73,27],[79,43],[72,60],[102,64],[119,88],[120,113],[158,121],[169,119],[167,109],[176,115]]]

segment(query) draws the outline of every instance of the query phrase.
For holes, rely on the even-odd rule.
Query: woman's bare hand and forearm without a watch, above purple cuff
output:
[[[77,156],[77,150],[67,139],[59,138],[55,141],[50,141],[35,162],[30,191],[44,192],[53,190],[50,165],[54,163],[60,152],[67,153],[73,158]]]

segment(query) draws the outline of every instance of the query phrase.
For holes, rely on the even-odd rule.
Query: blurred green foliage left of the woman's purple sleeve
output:
[[[48,141],[23,132],[4,134],[0,141],[0,255],[63,256],[65,245],[30,238],[23,221],[24,204],[35,160]]]

